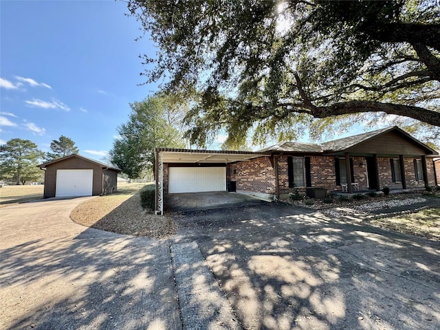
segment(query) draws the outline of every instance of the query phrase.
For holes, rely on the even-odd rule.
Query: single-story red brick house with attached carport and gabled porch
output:
[[[157,148],[155,153],[156,212],[163,211],[164,196],[175,192],[228,190],[278,199],[307,188],[349,193],[423,188],[435,182],[429,157],[438,154],[397,126],[255,152]]]

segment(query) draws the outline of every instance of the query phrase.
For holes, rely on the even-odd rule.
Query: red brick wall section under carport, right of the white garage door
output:
[[[236,190],[275,194],[275,170],[269,157],[250,159],[236,163],[236,174],[230,174],[236,181]]]

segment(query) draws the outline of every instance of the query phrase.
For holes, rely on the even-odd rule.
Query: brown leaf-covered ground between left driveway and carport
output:
[[[175,234],[177,224],[166,215],[155,215],[140,206],[144,184],[118,186],[118,192],[89,199],[72,210],[70,217],[87,227],[134,236],[164,239]]]

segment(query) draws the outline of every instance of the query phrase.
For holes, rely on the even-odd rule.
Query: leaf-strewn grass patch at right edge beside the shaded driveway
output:
[[[412,214],[375,219],[369,222],[381,228],[440,241],[440,208],[428,208]]]

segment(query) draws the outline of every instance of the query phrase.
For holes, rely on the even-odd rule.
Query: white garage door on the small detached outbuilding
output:
[[[94,170],[56,170],[55,197],[91,196]]]

